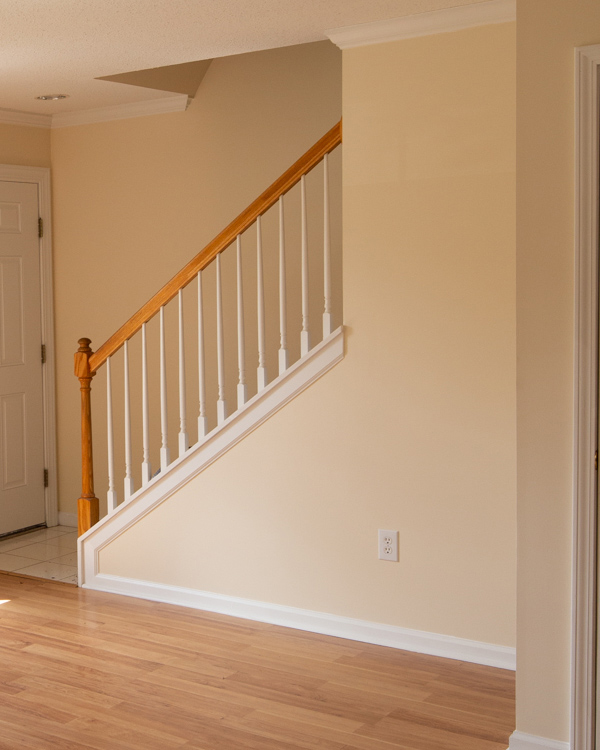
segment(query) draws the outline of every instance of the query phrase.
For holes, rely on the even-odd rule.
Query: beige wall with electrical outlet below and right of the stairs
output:
[[[514,34],[344,53],[347,356],[102,572],[514,645]]]

